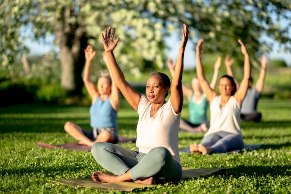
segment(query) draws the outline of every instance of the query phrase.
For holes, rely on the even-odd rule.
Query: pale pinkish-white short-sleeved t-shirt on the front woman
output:
[[[180,164],[178,131],[181,114],[174,112],[170,99],[153,117],[150,117],[151,107],[151,103],[142,95],[137,108],[136,146],[145,154],[155,147],[165,147]]]

